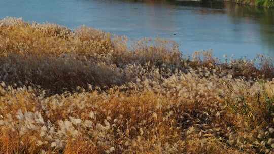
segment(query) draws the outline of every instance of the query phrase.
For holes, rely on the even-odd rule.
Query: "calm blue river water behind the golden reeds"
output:
[[[212,49],[222,57],[274,56],[274,9],[233,3],[121,0],[1,0],[0,18],[98,28],[130,40],[161,37],[184,54]]]

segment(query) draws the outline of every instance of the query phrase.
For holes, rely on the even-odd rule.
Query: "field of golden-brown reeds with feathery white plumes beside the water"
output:
[[[0,153],[274,153],[270,58],[0,20]]]

